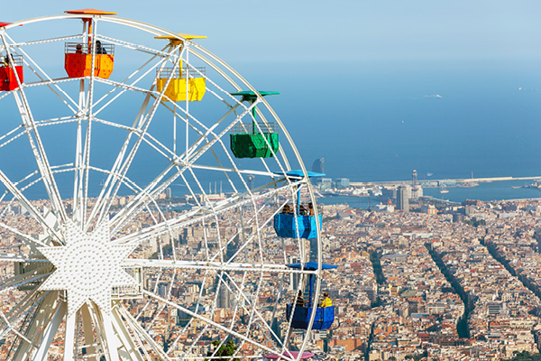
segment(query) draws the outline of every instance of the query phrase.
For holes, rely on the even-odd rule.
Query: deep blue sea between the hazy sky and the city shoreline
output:
[[[432,179],[541,175],[537,61],[315,60],[231,65],[255,88],[280,91],[280,96],[268,101],[307,169],[323,157],[329,178],[408,180],[413,170],[419,180],[428,174]],[[67,131],[71,133],[50,136],[73,143],[73,129]],[[95,160],[100,153],[109,151],[97,150]],[[66,157],[71,162],[72,154]],[[14,169],[23,164],[7,158],[0,162]],[[149,173],[145,167],[153,166],[141,165],[139,176],[133,178],[144,179]],[[256,177],[255,184],[266,181]],[[444,196],[456,201],[538,196],[536,190],[511,189],[522,184],[484,183],[472,189],[452,188]],[[426,194],[442,196],[439,190]],[[368,199],[355,201],[363,204]]]

